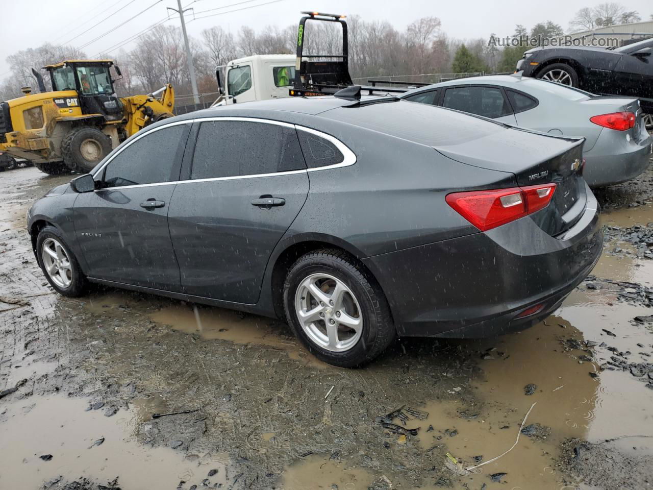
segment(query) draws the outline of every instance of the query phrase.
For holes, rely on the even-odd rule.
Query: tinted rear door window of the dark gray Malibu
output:
[[[306,169],[297,131],[278,124],[207,121],[200,125],[191,178]]]

